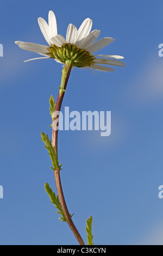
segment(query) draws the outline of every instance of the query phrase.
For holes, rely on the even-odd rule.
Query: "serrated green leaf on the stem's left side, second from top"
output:
[[[59,161],[57,159],[57,154],[55,154],[54,148],[52,146],[51,140],[48,138],[48,135],[41,132],[41,139],[45,143],[45,148],[49,151],[49,155],[51,156],[53,167],[51,167],[54,171],[61,170],[61,164],[59,165]]]

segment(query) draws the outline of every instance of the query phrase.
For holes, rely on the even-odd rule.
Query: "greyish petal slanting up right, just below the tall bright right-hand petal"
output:
[[[93,42],[96,41],[96,39],[98,38],[99,34],[100,34],[99,30],[97,30],[97,29],[93,30],[89,35],[86,36],[85,39],[82,40],[82,42],[80,42],[78,47],[82,48],[82,49],[86,49],[87,47],[92,45]]]

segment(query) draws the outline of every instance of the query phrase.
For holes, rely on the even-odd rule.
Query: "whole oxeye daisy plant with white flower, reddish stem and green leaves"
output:
[[[95,55],[94,52],[102,49],[103,47],[111,44],[114,41],[112,38],[102,38],[96,41],[100,31],[92,29],[92,20],[87,18],[83,21],[82,25],[77,29],[76,26],[70,24],[67,28],[66,38],[58,34],[57,21],[53,11],[49,11],[48,24],[41,17],[38,19],[39,26],[43,36],[45,37],[49,46],[33,44],[32,42],[16,41],[15,43],[22,49],[27,51],[36,52],[42,55],[41,58],[34,59],[47,59],[52,58],[59,63],[64,64],[62,69],[61,84],[59,87],[59,94],[57,101],[51,96],[49,103],[51,105],[50,114],[52,116],[52,141],[48,135],[41,133],[41,139],[45,143],[45,147],[49,152],[52,160],[52,169],[54,170],[55,183],[57,185],[58,196],[52,191],[48,184],[45,185],[46,191],[51,198],[51,202],[55,205],[61,214],[60,219],[65,221],[70,226],[74,236],[76,237],[79,245],[85,245],[79,231],[72,221],[72,215],[68,212],[67,205],[62,190],[60,170],[61,164],[58,159],[58,121],[61,110],[62,101],[67,88],[68,78],[73,67],[86,68],[90,70],[99,71],[114,71],[107,65],[124,66],[125,64],[117,59],[123,59],[118,55]],[[29,60],[34,60],[29,59]],[[26,60],[29,61],[29,60]],[[106,66],[105,66],[106,65]],[[92,216],[87,219],[87,245],[93,245],[92,232],[91,232]]]

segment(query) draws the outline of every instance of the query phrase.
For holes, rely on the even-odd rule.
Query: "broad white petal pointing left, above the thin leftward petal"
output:
[[[47,54],[49,52],[48,46],[33,44],[33,42],[22,42],[19,45],[19,47],[22,48],[23,50],[36,52],[40,54]]]

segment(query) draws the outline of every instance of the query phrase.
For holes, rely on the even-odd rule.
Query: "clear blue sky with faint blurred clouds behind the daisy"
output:
[[[163,2],[0,1],[1,245],[77,245],[58,220],[44,184],[56,192],[51,160],[40,139],[51,136],[49,97],[57,99],[62,66],[37,57],[14,41],[46,44],[37,18],[53,10],[58,31],[84,19],[115,41],[99,54],[124,56],[126,68],[98,72],[75,68],[62,107],[70,111],[111,111],[111,135],[60,131],[61,180],[68,209],[86,242],[93,216],[96,245],[163,244],[162,173]]]

